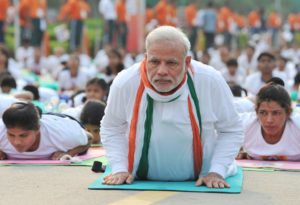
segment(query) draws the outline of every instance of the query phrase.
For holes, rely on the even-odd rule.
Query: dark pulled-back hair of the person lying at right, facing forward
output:
[[[291,98],[282,85],[271,82],[262,87],[256,95],[256,111],[261,103],[271,101],[278,103],[289,113],[291,109]]]

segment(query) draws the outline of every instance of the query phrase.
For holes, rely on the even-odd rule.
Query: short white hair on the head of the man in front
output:
[[[178,42],[184,47],[184,55],[187,56],[191,48],[191,43],[185,33],[179,28],[173,26],[160,26],[152,30],[146,37],[146,50],[149,49],[152,43],[158,41],[173,41]]]

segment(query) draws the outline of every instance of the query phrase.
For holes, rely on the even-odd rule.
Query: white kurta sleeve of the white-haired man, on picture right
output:
[[[226,177],[244,140],[243,125],[234,108],[233,96],[225,80],[217,73],[212,83],[211,93],[218,96],[218,100],[212,101],[212,109],[216,116],[217,140],[209,172]]]

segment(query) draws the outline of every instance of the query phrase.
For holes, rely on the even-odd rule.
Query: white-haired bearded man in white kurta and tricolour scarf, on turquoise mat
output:
[[[105,184],[133,179],[229,187],[243,142],[233,96],[214,68],[191,60],[179,29],[161,26],[146,38],[143,62],[112,83],[101,140],[112,168]]]

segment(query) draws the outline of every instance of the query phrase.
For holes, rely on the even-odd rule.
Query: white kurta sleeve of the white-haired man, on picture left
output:
[[[101,141],[106,149],[112,173],[128,171],[128,123],[125,105],[128,98],[128,93],[122,92],[118,84],[118,77],[115,78],[100,126]]]

